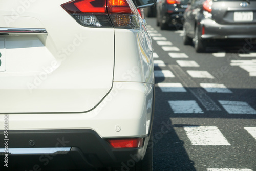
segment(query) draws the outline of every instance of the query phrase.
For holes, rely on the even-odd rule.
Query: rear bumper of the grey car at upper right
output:
[[[211,19],[200,22],[205,27],[202,39],[245,39],[256,38],[256,25],[222,25]]]

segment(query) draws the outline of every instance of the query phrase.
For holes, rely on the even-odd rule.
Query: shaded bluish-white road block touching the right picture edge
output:
[[[220,100],[219,102],[229,114],[256,114],[256,111],[243,101]]]

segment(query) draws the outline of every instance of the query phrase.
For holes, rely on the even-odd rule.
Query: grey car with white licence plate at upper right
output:
[[[183,42],[196,52],[218,40],[256,39],[256,0],[190,0],[184,19]]]

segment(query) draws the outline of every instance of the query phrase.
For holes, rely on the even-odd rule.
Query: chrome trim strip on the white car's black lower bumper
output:
[[[28,155],[28,154],[67,154],[71,147],[68,148],[8,148],[7,154]],[[5,148],[0,149],[0,155],[5,155]]]

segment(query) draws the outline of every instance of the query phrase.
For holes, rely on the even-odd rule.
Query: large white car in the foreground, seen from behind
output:
[[[0,170],[153,169],[154,3],[0,0]]]

